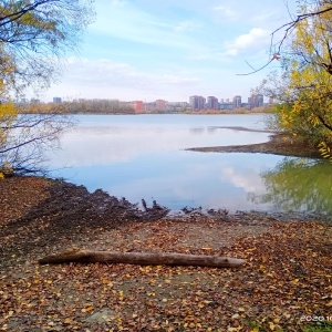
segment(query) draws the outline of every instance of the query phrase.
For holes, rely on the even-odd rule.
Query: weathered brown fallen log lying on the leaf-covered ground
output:
[[[177,252],[121,252],[70,249],[56,255],[46,256],[38,262],[40,264],[63,262],[105,262],[142,266],[237,268],[243,264],[245,260],[220,256],[186,255]]]

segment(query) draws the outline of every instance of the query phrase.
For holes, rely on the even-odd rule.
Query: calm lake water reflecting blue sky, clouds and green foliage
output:
[[[266,142],[263,115],[77,115],[51,155],[54,177],[132,203],[332,214],[331,165],[266,154],[185,148]]]

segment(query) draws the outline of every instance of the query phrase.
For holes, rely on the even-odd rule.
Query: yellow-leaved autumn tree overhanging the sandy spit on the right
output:
[[[282,72],[262,84],[273,97],[274,124],[318,146],[332,160],[332,1],[299,2],[282,39]]]

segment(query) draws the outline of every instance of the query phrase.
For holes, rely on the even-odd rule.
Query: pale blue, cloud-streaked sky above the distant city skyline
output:
[[[279,63],[238,74],[269,62],[271,33],[290,21],[295,0],[96,0],[95,11],[43,101],[247,101]]]

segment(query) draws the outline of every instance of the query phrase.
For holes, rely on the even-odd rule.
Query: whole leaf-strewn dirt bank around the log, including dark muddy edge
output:
[[[157,204],[141,209],[38,177],[1,180],[0,206],[1,331],[302,331],[303,318],[332,314],[323,220],[225,210],[169,218]],[[73,247],[220,253],[246,264],[37,264]]]

